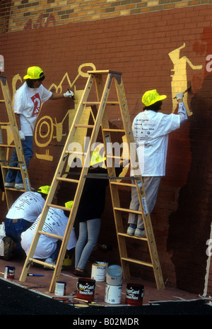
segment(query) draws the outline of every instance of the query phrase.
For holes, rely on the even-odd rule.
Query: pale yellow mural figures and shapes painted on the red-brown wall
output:
[[[178,91],[182,91],[182,92],[186,91],[189,87],[187,82],[187,65],[189,65],[189,67],[191,67],[194,70],[200,70],[203,67],[203,65],[193,65],[192,62],[189,60],[189,58],[187,58],[186,56],[180,57],[180,52],[185,47],[186,44],[183,43],[181,46],[179,46],[179,48],[176,48],[167,54],[170,57],[170,60],[172,61],[172,65],[173,65],[173,67],[171,68],[171,72],[173,72],[173,74],[170,75],[172,77],[172,81],[171,81],[172,113],[174,113],[175,109],[177,108],[177,101],[175,99],[175,94]],[[64,74],[64,77],[62,77],[61,82],[59,83],[58,86],[53,83],[49,87],[49,90],[54,88],[56,92],[61,92],[62,85],[64,83],[64,80],[66,79],[69,83],[70,89],[74,87],[75,102],[74,102],[74,108],[70,108],[60,122],[57,121],[57,118],[52,118],[52,116],[41,116],[37,118],[37,123],[35,126],[35,145],[37,145],[37,147],[41,149],[41,151],[36,152],[35,155],[38,159],[44,161],[53,161],[54,155],[52,155],[49,152],[48,145],[54,139],[56,139],[57,142],[61,142],[62,138],[66,136],[66,134],[63,133],[63,125],[66,118],[68,118],[69,121],[69,129],[71,128],[71,123],[75,116],[78,103],[83,94],[83,90],[76,89],[76,82],[79,77],[84,77],[84,78],[88,77],[88,73],[86,72],[87,70],[85,69],[86,67],[91,67],[92,69],[95,69],[95,65],[93,63],[83,63],[82,65],[80,65],[80,67],[78,67],[78,74],[76,75],[73,82],[70,81],[69,74],[66,72],[66,74]],[[20,75],[16,74],[13,77],[13,82],[12,82],[13,96],[16,92],[16,84],[18,80],[22,82]],[[191,116],[192,111],[189,109],[189,105],[187,101],[187,93],[184,94],[184,104],[187,108],[188,115]],[[81,118],[83,124],[85,125],[88,124],[90,113],[91,113],[91,108],[86,108],[86,111],[84,111],[83,117]],[[11,135],[8,128],[5,129],[7,129],[6,131],[7,142],[8,144],[11,144],[13,142],[13,136]],[[43,131],[45,131],[45,133],[43,133]],[[81,145],[83,145],[84,143],[84,137],[86,136],[86,133],[87,133],[87,129],[84,128],[84,131],[81,132],[81,135],[78,135],[76,137],[78,143],[80,143]],[[124,144],[124,140],[125,139],[123,138],[123,144]],[[44,150],[44,152],[42,152],[42,149]],[[123,150],[123,152],[125,153],[126,150]],[[126,174],[127,172],[126,169],[127,168],[125,168],[125,170],[122,172],[122,176]]]

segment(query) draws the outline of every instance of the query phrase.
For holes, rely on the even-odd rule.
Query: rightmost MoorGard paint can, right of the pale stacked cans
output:
[[[127,305],[142,306],[143,303],[143,284],[126,284],[126,299]]]

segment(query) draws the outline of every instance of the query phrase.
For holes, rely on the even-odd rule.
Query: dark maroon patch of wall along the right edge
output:
[[[169,216],[167,252],[172,253],[177,288],[202,294],[206,275],[206,242],[212,214],[212,76],[204,79],[191,101],[192,162],[179,191],[178,209]]]

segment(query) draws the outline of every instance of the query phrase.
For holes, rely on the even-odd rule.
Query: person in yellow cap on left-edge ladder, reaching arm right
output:
[[[20,140],[23,147],[26,167],[29,167],[30,159],[33,157],[33,133],[35,123],[42,103],[48,99],[57,100],[63,97],[73,97],[73,91],[66,93],[52,93],[43,87],[42,82],[45,74],[40,67],[28,68],[23,77],[25,83],[16,91],[13,102],[13,110],[19,130]],[[18,157],[16,150],[13,151],[9,167],[17,167]],[[6,174],[5,187],[24,189],[23,179],[19,170],[9,169]]]

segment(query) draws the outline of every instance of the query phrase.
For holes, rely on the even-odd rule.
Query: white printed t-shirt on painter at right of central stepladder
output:
[[[187,118],[183,103],[180,103],[179,111]],[[168,134],[180,127],[180,121],[179,114],[151,110],[143,111],[134,118],[132,130],[143,177],[165,176]],[[131,174],[134,174],[132,170]]]

